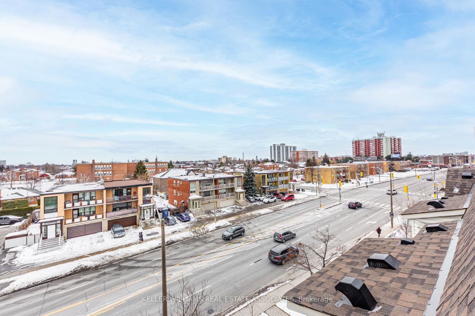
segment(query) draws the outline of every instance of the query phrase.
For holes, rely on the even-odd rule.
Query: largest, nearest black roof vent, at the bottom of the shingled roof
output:
[[[366,310],[373,310],[376,307],[376,300],[360,279],[353,277],[343,277],[343,279],[335,285],[335,289],[343,293],[352,303],[353,307],[360,307]]]

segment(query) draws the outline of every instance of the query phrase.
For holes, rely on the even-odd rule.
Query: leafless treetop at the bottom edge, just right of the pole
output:
[[[167,293],[168,315],[207,316],[208,312],[204,310],[204,304],[209,301],[208,298],[211,296],[211,290],[206,290],[208,282],[203,280],[198,287],[191,283],[188,277],[181,278],[178,282],[180,289],[175,293]],[[216,313],[216,311],[214,312]],[[161,310],[158,313],[162,315]]]

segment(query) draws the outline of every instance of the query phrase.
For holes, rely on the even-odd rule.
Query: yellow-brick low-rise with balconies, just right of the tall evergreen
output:
[[[235,171],[244,175],[245,171]],[[254,171],[257,193],[261,195],[295,191],[294,172],[279,170]]]

